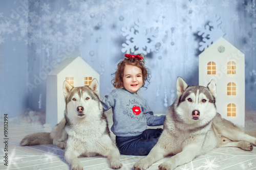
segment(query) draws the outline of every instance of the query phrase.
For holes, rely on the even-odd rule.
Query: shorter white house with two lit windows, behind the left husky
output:
[[[66,104],[62,86],[65,80],[78,87],[89,85],[94,78],[99,82],[98,72],[81,57],[62,61],[47,77],[46,124],[53,128],[64,117]]]

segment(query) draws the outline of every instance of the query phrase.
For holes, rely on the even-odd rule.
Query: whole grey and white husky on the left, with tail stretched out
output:
[[[110,166],[119,169],[122,163],[120,153],[110,138],[110,131],[102,105],[98,98],[98,81],[94,79],[89,86],[73,87],[63,83],[66,101],[65,118],[51,133],[34,133],[25,136],[21,145],[53,143],[65,149],[65,160],[72,169],[83,169],[78,157],[108,157]]]

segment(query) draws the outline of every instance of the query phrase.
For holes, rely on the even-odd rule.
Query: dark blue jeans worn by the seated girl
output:
[[[147,155],[158,141],[163,129],[146,129],[141,135],[116,136],[116,145],[123,155]]]

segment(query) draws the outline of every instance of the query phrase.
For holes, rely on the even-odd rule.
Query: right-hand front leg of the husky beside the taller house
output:
[[[185,148],[182,149],[182,152],[172,156],[169,160],[161,163],[158,168],[159,170],[173,170],[177,166],[183,165],[193,160],[197,155],[200,154],[200,150],[201,147],[199,147],[199,145],[187,145]]]

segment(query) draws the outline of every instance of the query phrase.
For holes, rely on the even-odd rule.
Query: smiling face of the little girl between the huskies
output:
[[[142,70],[133,65],[125,65],[123,70],[123,87],[136,93],[143,85]]]

